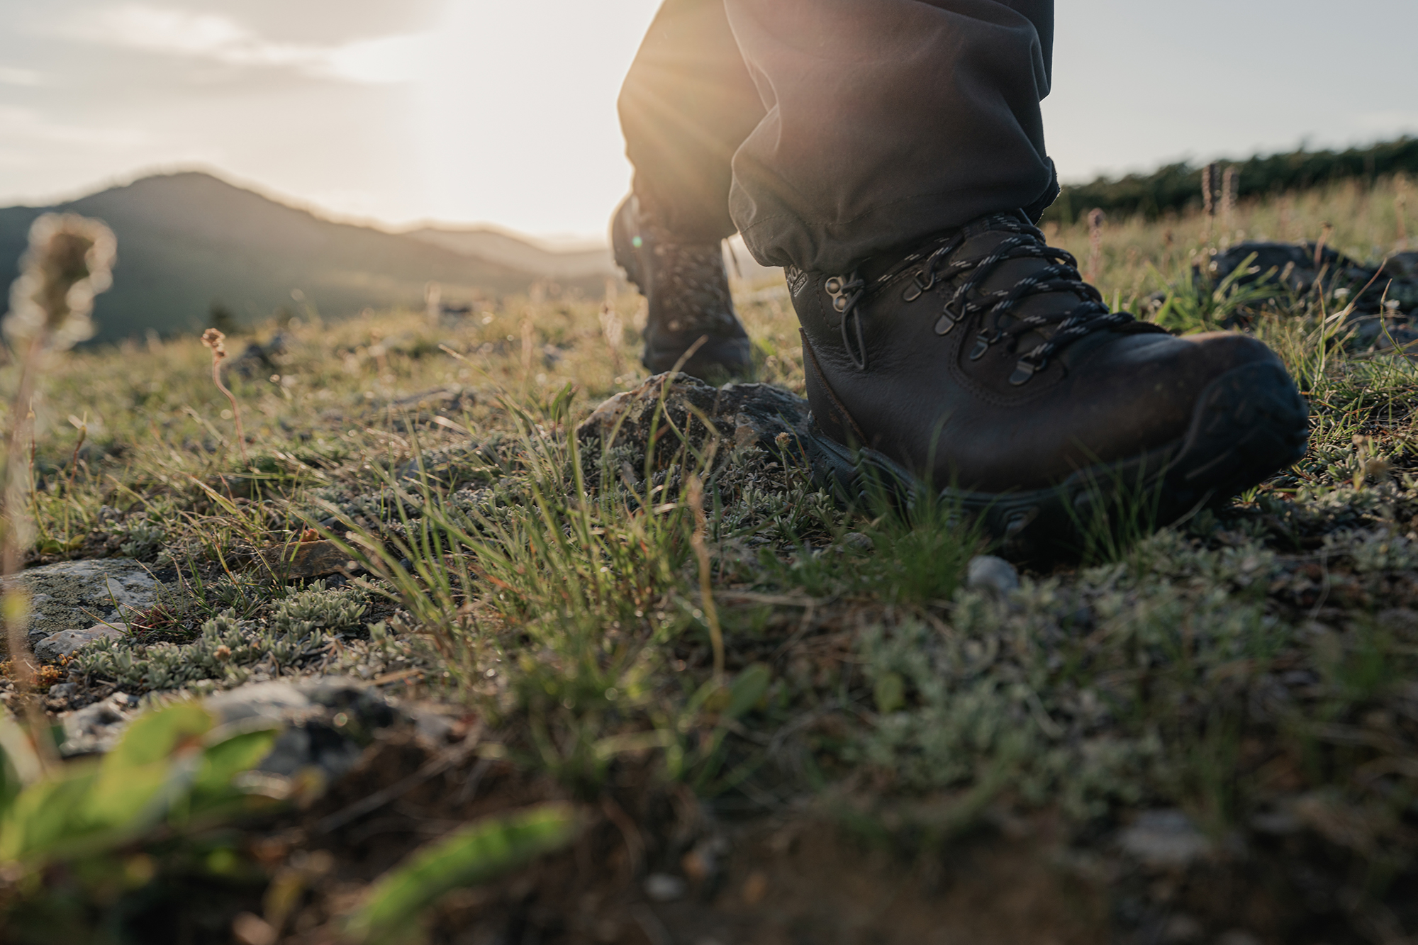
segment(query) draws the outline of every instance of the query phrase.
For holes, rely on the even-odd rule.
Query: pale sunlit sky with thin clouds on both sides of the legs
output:
[[[337,219],[601,238],[657,6],[0,0],[0,206],[203,167]],[[1086,180],[1418,133],[1411,35],[1414,0],[1062,0],[1049,153]]]

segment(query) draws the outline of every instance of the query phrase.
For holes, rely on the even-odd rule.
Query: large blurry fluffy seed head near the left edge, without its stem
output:
[[[94,297],[113,284],[118,240],[98,220],[47,213],[30,227],[20,278],[10,287],[4,333],[55,350],[94,336]]]

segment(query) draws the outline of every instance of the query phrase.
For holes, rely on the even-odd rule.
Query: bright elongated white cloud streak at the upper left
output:
[[[65,35],[101,45],[217,62],[285,68],[315,78],[389,84],[418,78],[427,34],[387,35],[343,45],[275,43],[217,13],[129,3],[67,21]]]

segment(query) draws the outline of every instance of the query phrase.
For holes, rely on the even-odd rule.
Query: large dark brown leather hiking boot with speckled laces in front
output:
[[[820,480],[854,499],[946,487],[1014,556],[1166,525],[1305,453],[1307,407],[1269,348],[1109,312],[1022,214],[787,280]]]

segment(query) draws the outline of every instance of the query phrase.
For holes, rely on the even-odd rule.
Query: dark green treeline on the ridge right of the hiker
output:
[[[1285,155],[1256,155],[1245,160],[1221,162],[1235,169],[1236,199],[1303,190],[1314,184],[1385,175],[1418,175],[1418,138],[1400,138],[1349,150],[1293,150]],[[1150,175],[1127,175],[1120,180],[1099,177],[1086,184],[1069,184],[1044,214],[1045,220],[1073,223],[1095,207],[1109,216],[1143,214],[1156,219],[1168,210],[1201,206],[1202,167],[1167,165]]]

